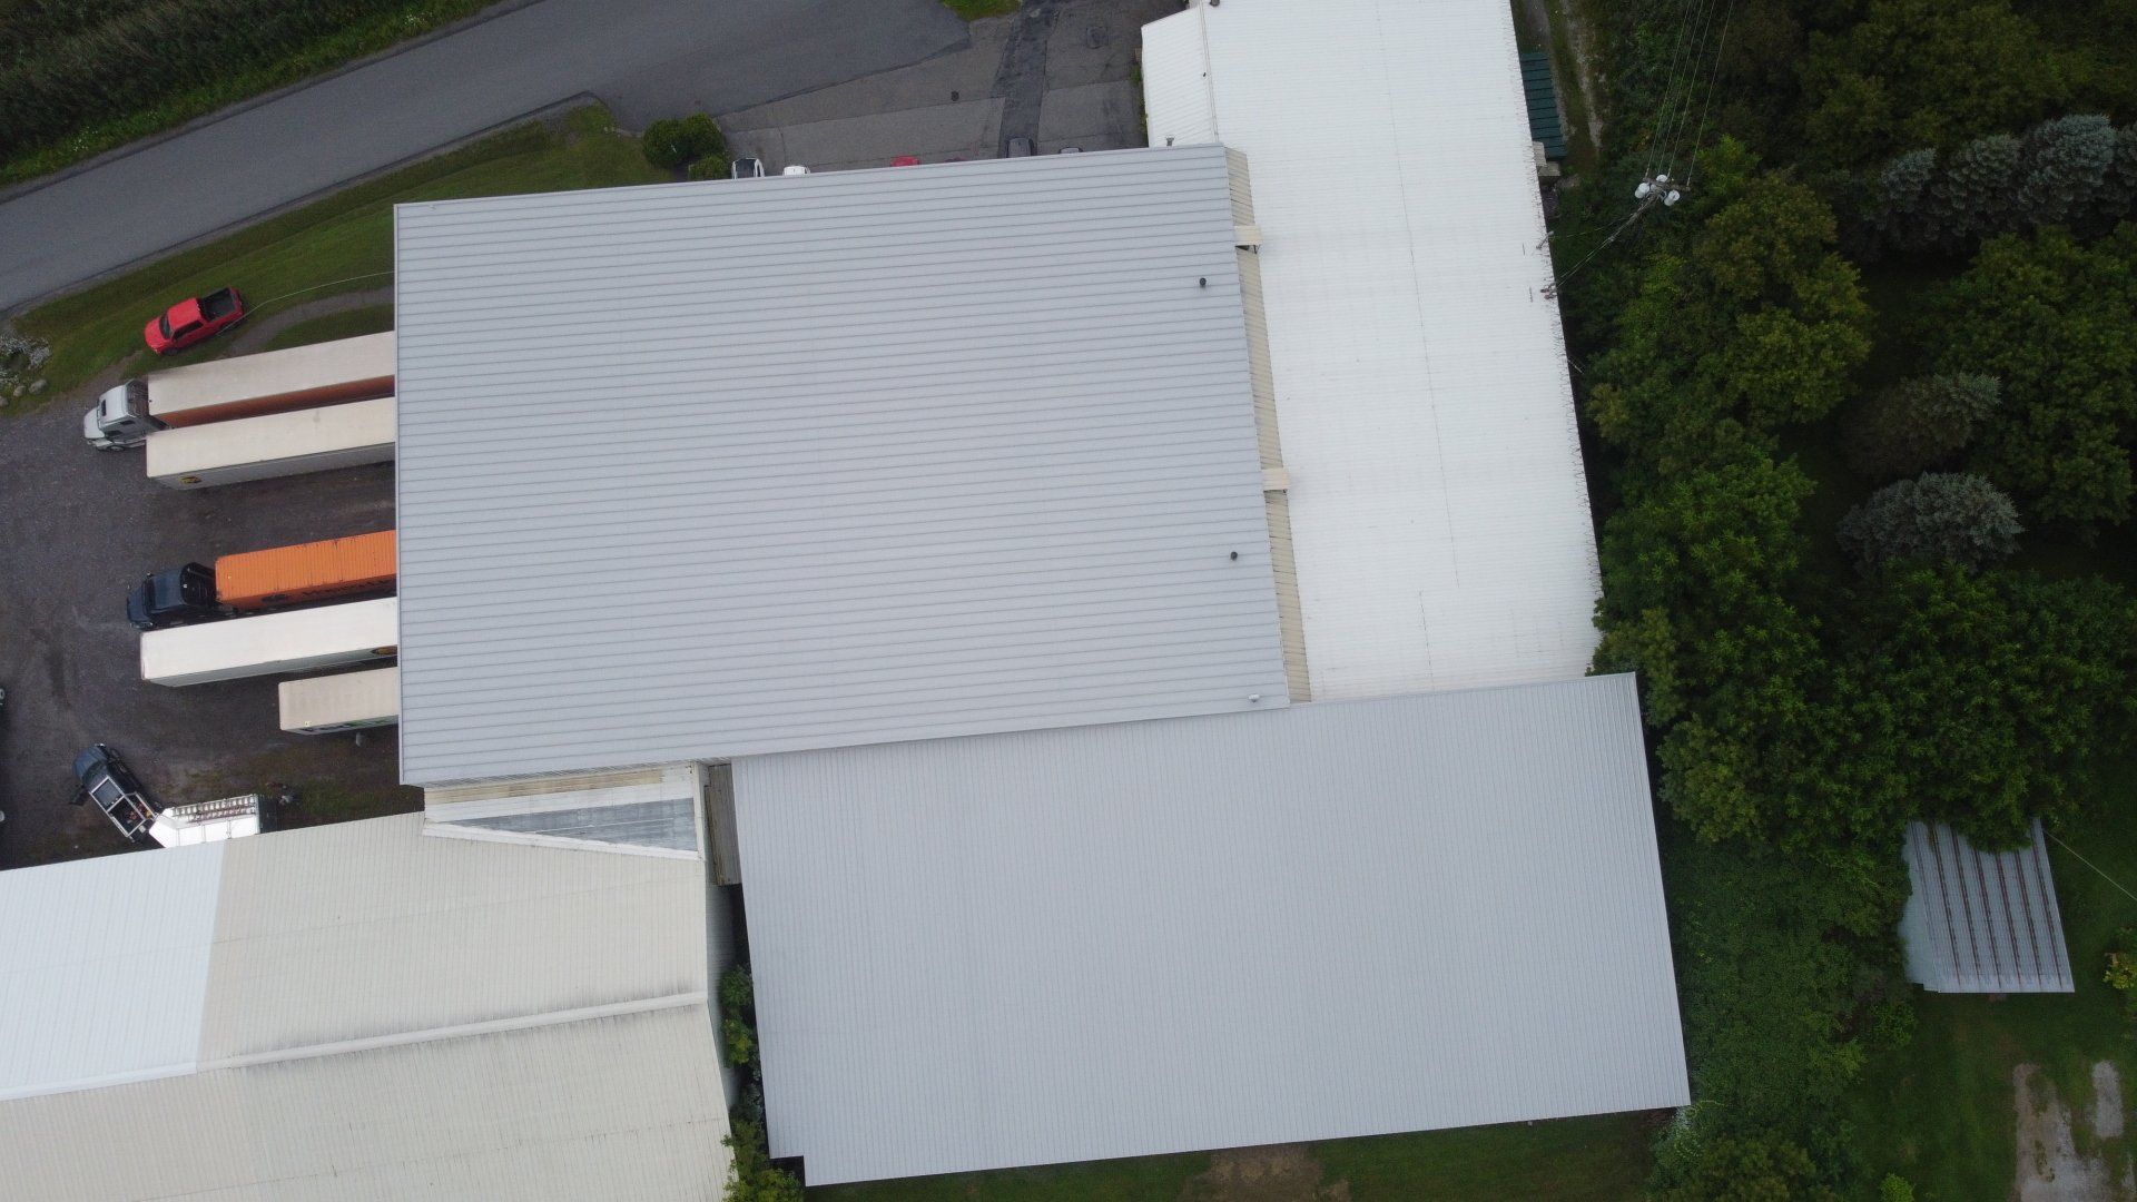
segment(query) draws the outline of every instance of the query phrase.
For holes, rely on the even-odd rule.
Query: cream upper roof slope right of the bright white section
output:
[[[705,990],[701,864],[421,830],[229,845],[203,1061]]]

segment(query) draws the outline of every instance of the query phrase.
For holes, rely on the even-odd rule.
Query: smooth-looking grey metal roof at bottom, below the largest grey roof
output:
[[[1688,1099],[1631,676],[733,772],[812,1185]]]

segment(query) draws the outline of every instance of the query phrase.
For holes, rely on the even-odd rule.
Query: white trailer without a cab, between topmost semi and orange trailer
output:
[[[214,488],[329,468],[393,462],[391,396],[239,417],[147,436],[147,477],[165,488]]]

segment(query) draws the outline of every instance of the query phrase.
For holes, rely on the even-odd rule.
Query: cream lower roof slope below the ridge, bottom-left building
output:
[[[0,1191],[36,1202],[705,1200],[727,1181],[724,1136],[699,1003],[0,1104]]]

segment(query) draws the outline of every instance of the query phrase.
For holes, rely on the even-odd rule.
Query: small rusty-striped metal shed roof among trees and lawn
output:
[[[2041,819],[2032,845],[1981,851],[1945,823],[1906,826],[1906,977],[1930,992],[2073,992]]]

